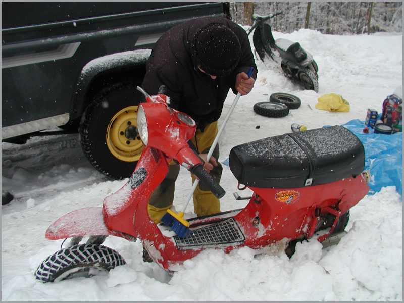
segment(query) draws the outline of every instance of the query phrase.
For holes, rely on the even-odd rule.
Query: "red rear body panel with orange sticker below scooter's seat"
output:
[[[367,194],[369,186],[359,175],[316,186],[250,189],[257,196],[235,219],[242,226],[245,245],[258,248],[283,238],[311,237],[316,208],[332,207],[345,213]]]

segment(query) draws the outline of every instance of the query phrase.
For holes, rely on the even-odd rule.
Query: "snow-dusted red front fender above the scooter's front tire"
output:
[[[85,235],[112,235],[103,219],[102,207],[87,207],[70,212],[56,220],[46,230],[49,240],[65,239]]]

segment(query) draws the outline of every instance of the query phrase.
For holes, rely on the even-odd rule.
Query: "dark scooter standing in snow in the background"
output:
[[[270,57],[275,62],[280,63],[286,77],[301,84],[305,89],[318,92],[319,68],[313,56],[302,48],[299,42],[287,39],[275,40],[272,35],[271,26],[264,23],[280,14],[282,12],[268,16],[254,14],[252,16],[253,24],[248,29],[247,35],[255,30],[252,42],[262,62],[264,62],[267,56]]]

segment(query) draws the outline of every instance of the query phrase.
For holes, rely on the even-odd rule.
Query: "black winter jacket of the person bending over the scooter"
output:
[[[209,23],[227,25],[237,35],[242,52],[236,69],[215,80],[200,72],[191,56],[195,33]],[[226,18],[202,17],[179,24],[160,37],[147,61],[142,88],[153,95],[162,84],[166,85],[170,106],[190,115],[204,130],[207,124],[219,119],[229,88],[237,93],[236,75],[247,73],[250,67],[254,67],[252,77],[256,79],[257,66],[246,32]]]

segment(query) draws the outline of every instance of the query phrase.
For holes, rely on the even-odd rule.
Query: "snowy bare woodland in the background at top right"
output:
[[[249,24],[250,17],[247,15],[251,14],[251,11],[244,12],[244,6],[251,4],[241,1],[230,2],[231,15],[236,23]],[[372,4],[365,1],[262,1],[254,2],[252,12],[269,15],[282,11],[282,15],[266,21],[273,31],[279,32],[290,33],[304,27],[325,34],[402,32],[402,4],[394,1],[374,1]],[[309,5],[309,19],[306,20]]]

